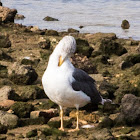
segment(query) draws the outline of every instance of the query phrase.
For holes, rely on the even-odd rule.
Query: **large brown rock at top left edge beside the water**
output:
[[[4,23],[14,22],[16,13],[16,9],[9,9],[7,7],[0,6],[0,17],[2,18],[2,22]]]

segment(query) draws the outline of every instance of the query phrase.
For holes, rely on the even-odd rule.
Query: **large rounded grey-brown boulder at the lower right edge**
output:
[[[116,125],[140,124],[140,97],[126,94],[122,98],[121,114],[115,119]]]

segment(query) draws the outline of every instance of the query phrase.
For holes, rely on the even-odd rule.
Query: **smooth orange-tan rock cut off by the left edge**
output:
[[[14,103],[14,100],[0,101],[0,110],[9,110]]]

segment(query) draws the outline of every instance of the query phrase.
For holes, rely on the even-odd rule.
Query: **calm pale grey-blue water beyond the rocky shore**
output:
[[[118,37],[140,40],[140,0],[1,0],[3,5],[16,8],[24,20],[23,25],[40,29],[67,31],[78,29],[81,33],[116,33]],[[51,16],[59,21],[44,21]],[[130,29],[121,29],[127,19]],[[79,29],[82,25],[84,28]]]

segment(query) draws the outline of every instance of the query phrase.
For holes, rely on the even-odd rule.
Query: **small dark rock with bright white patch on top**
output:
[[[23,64],[23,65],[37,66],[39,62],[40,62],[40,59],[35,59],[35,58],[31,58],[31,57],[24,57],[21,60],[21,64]]]

